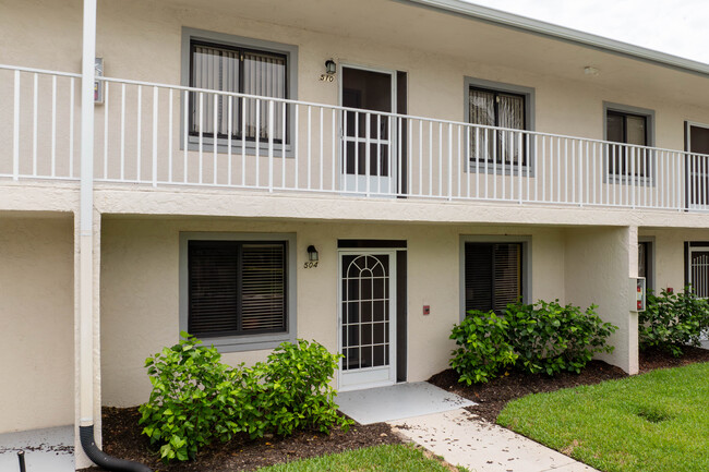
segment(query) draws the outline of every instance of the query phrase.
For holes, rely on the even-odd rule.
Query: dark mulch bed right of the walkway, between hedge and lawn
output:
[[[656,368],[678,367],[695,362],[709,362],[709,350],[683,348],[683,351],[684,355],[678,359],[659,350],[640,352],[640,373]],[[467,386],[458,383],[456,374],[452,370],[447,370],[434,375],[429,382],[474,401],[478,404],[470,407],[469,411],[494,423],[497,420],[497,414],[508,401],[529,394],[554,391],[580,385],[593,385],[623,377],[627,377],[627,374],[618,367],[602,361],[591,361],[580,374],[562,373],[555,377],[513,371],[509,375],[495,378],[488,384]]]

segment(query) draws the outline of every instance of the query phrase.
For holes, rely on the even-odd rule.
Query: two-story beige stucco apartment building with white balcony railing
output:
[[[144,402],[180,330],[422,380],[518,298],[633,374],[630,278],[709,290],[707,64],[457,0],[83,7],[0,2],[0,433]]]

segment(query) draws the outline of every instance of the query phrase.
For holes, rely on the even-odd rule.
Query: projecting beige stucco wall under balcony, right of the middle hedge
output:
[[[629,311],[629,278],[637,276],[637,229],[569,229],[565,245],[566,301],[581,307],[598,305],[597,313],[618,327],[609,342],[606,362],[625,372],[638,372],[637,313]]]

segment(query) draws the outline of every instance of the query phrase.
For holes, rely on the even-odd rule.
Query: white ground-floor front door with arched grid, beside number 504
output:
[[[339,389],[396,383],[394,251],[339,253]]]

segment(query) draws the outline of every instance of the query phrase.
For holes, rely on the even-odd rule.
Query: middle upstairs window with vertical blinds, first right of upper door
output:
[[[471,128],[470,161],[478,170],[488,166],[526,166],[533,90],[468,78],[466,119],[494,128]],[[515,130],[519,130],[515,131]]]

